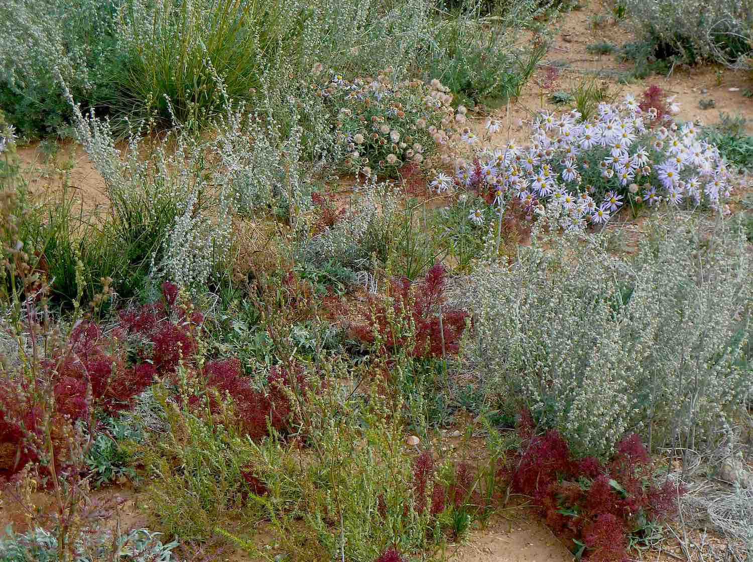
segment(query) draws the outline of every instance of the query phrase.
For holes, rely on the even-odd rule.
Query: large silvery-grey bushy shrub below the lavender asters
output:
[[[627,431],[703,450],[739,421],[753,397],[751,254],[721,219],[672,217],[632,258],[568,233],[477,269],[459,292],[487,398],[528,406],[578,454],[608,454]]]

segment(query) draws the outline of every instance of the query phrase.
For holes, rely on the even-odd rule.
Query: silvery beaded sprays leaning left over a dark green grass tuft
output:
[[[154,275],[179,287],[206,284],[230,250],[233,209],[232,197],[210,184],[204,169],[210,145],[176,128],[144,158],[142,131],[136,129],[121,156],[108,120],[93,111],[81,114],[67,89],[66,97],[74,110],[75,137],[102,175],[111,201],[134,198],[175,215],[164,233],[161,259],[153,264]]]

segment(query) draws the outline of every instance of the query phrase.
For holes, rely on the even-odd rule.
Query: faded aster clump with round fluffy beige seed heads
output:
[[[343,149],[342,164],[350,172],[395,175],[407,163],[425,163],[453,135],[453,98],[437,80],[431,84],[398,80],[392,68],[380,71],[376,79],[346,80],[321,68],[314,74],[320,72],[323,78],[310,88],[333,113],[335,142]]]

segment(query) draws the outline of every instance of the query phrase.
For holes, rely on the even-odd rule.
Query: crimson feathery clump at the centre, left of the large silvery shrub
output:
[[[418,283],[411,283],[408,278],[392,280],[392,312],[396,319],[407,317],[415,326],[413,347],[408,350],[413,357],[442,357],[444,351],[456,354],[460,348],[460,336],[465,330],[468,312],[448,310],[442,314],[440,330],[439,305],[444,299],[444,287],[447,270],[441,264],[429,269],[426,277]],[[362,342],[372,343],[379,333],[389,351],[405,348],[409,338],[402,330],[395,330],[390,324],[387,302],[372,299],[371,314],[367,324],[353,328],[353,335]]]

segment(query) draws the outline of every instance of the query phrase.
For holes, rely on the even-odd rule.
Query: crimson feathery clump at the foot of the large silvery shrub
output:
[[[635,434],[602,464],[575,459],[555,430],[536,435],[529,412],[517,430],[523,446],[511,474],[514,491],[534,498],[546,524],[592,562],[623,562],[629,535],[640,540],[648,524],[677,510],[682,493],[671,481],[654,482],[651,458]]]

